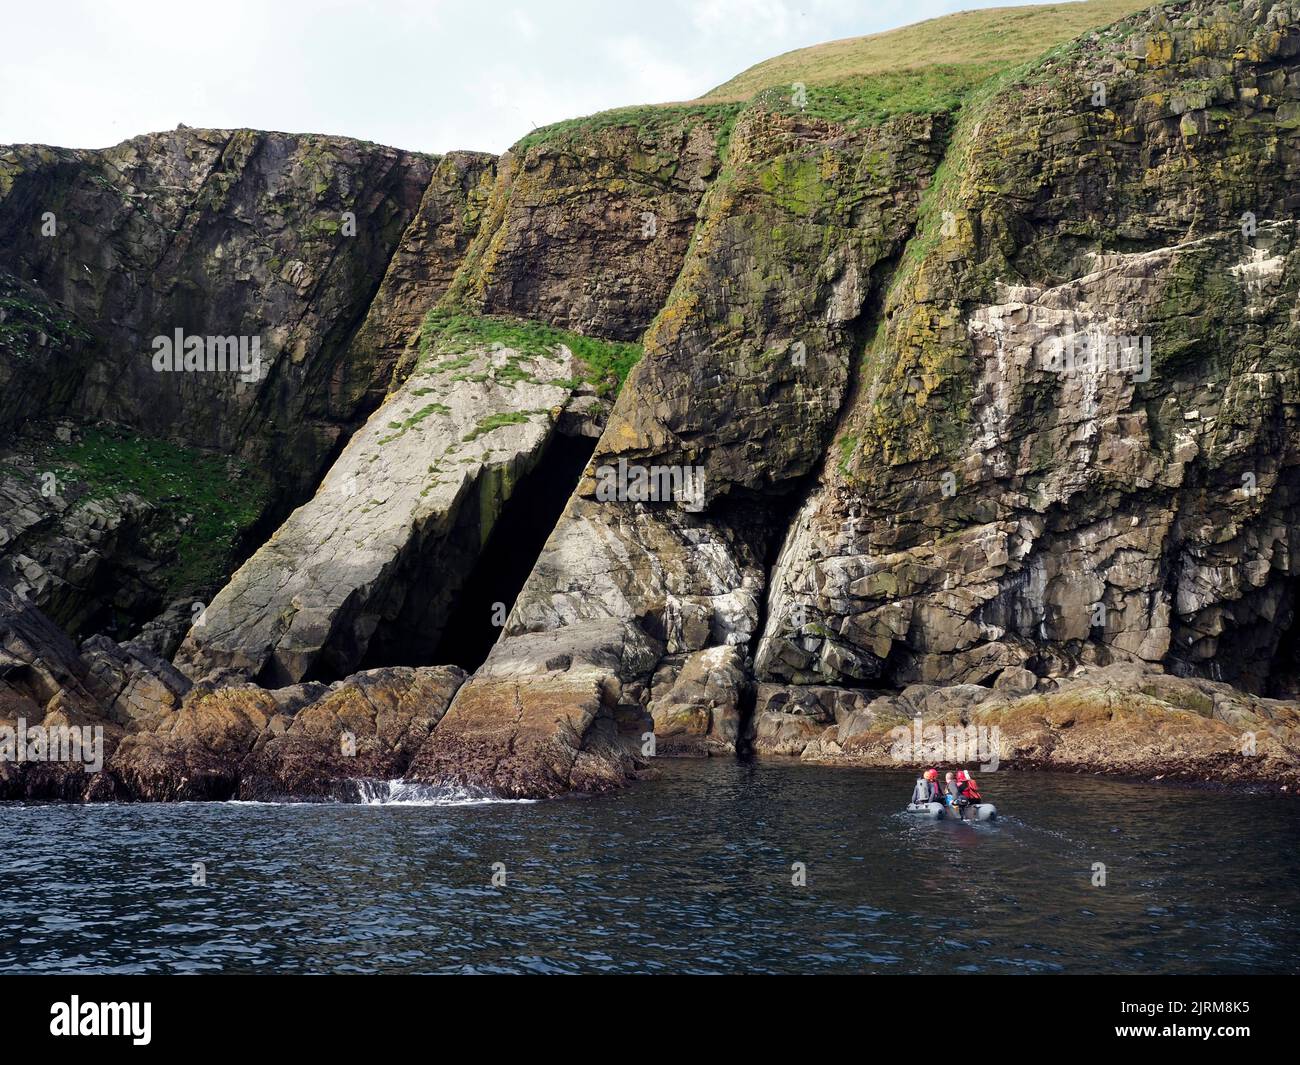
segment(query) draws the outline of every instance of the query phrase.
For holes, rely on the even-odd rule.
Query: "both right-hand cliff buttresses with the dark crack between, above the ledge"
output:
[[[671,642],[685,601],[705,620],[668,648],[682,664],[746,646],[767,575],[720,544],[675,564],[673,531],[716,544],[758,494],[760,559],[771,497],[814,462],[758,680],[1024,693],[1135,661],[1292,694],[1297,47],[1284,5],[1156,9],[974,95],[950,143],[944,114],[818,130],[754,105],[597,450],[698,466],[703,506],[593,503],[585,481],[511,629],[630,615]],[[805,139],[755,150],[783,126]],[[848,225],[818,228],[822,205]],[[656,732],[733,739],[712,696],[681,713],[664,664]],[[854,713],[828,702],[768,700],[759,746],[798,754],[810,720]]]

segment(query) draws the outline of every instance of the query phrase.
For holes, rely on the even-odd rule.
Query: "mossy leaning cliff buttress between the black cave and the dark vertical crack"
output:
[[[937,161],[936,125],[906,117],[846,130],[759,108],[737,121],[646,356],[589,467],[689,471],[696,490],[598,498],[598,477],[585,479],[520,594],[507,644],[632,619],[671,658],[619,674],[621,705],[642,707],[676,744],[684,735],[734,746],[772,510],[829,436],[863,311]],[[607,631],[623,638],[621,627]],[[716,697],[684,703],[682,675],[712,659]]]

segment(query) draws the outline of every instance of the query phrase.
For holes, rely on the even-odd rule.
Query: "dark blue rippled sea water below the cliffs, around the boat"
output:
[[[660,774],[536,804],[0,804],[0,971],[1300,971],[1300,801],[1000,772],[1004,817],[963,826],[898,813],[910,772]]]

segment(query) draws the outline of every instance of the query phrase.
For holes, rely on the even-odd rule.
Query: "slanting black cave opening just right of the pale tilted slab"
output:
[[[592,437],[551,437],[537,467],[506,501],[456,593],[430,664],[473,672],[484,663],[594,451]]]

